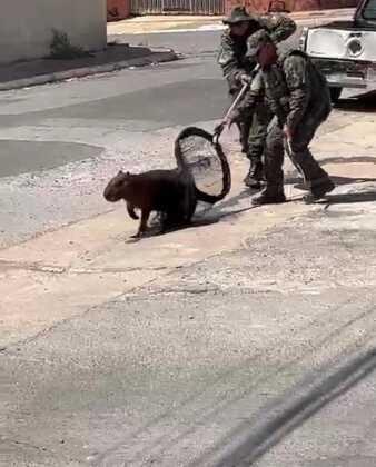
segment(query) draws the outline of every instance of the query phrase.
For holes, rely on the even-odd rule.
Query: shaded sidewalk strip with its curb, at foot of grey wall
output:
[[[177,56],[170,49],[110,43],[106,50],[93,53],[91,57],[75,60],[40,59],[1,66],[0,91],[176,59]]]

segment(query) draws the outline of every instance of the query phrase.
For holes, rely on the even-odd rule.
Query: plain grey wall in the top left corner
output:
[[[72,44],[106,46],[106,0],[2,0],[0,62],[49,54],[51,29],[67,32]]]

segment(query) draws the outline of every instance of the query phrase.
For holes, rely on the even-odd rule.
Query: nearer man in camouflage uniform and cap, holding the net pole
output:
[[[314,201],[334,189],[327,172],[308,149],[318,126],[332,110],[330,95],[324,76],[299,50],[278,57],[276,46],[266,31],[256,32],[248,41],[248,54],[256,57],[260,71],[253,80],[244,101],[228,119],[249,117],[259,99],[266,98],[274,119],[268,127],[265,148],[266,188],[253,203],[284,202],[284,145],[293,163],[304,176]]]

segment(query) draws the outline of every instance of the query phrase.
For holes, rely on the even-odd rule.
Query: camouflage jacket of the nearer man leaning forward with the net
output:
[[[235,116],[248,118],[263,98],[291,132],[308,117],[324,121],[332,109],[325,77],[299,50],[289,51],[270,69],[258,72]]]

